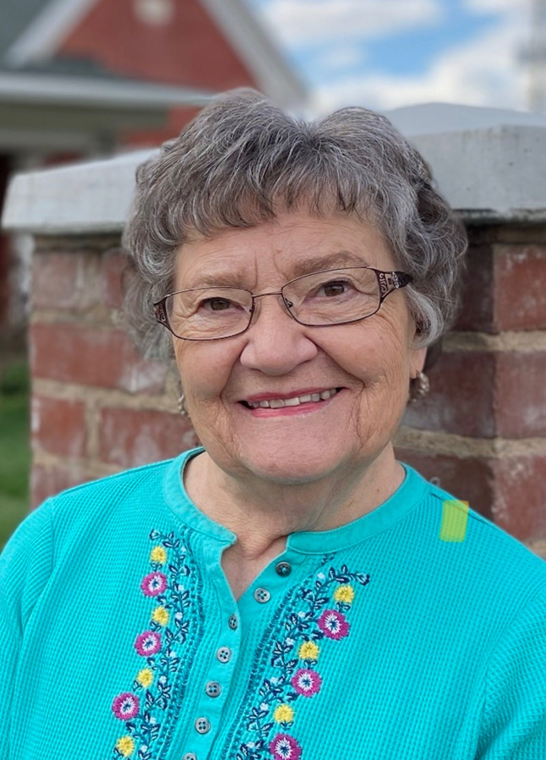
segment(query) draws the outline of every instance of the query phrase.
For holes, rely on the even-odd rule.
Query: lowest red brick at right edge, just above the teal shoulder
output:
[[[546,539],[546,456],[491,461],[494,521],[516,538]]]

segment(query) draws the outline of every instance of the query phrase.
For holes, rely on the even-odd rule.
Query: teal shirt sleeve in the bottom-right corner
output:
[[[491,658],[476,760],[546,760],[546,589]]]

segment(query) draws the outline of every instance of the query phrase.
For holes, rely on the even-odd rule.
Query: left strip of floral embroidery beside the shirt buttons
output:
[[[113,758],[128,758],[137,751],[138,760],[151,760],[153,744],[172,699],[175,678],[183,677],[185,672],[181,670],[178,648],[188,639],[190,624],[186,610],[191,596],[197,598],[194,623],[202,618],[198,594],[185,587],[186,583],[195,584],[198,574],[193,562],[190,564],[181,539],[174,533],[164,535],[152,530],[150,540],[154,542],[150,551],[151,572],[144,575],[140,591],[153,599],[156,606],[150,610],[148,627],[134,640],[134,649],[145,659],[145,667],[138,670],[133,691],[122,692],[112,701],[112,712],[125,722],[126,731],[115,743]],[[198,640],[199,631],[195,633],[191,641]],[[194,651],[191,644],[190,649]],[[191,653],[186,651],[186,654],[184,667],[187,669]],[[175,688],[181,695],[184,687],[180,682]]]

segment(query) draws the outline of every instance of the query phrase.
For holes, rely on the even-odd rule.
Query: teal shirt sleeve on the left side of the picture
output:
[[[52,569],[51,505],[46,502],[17,528],[0,555],[0,758],[10,758],[9,735],[17,663],[24,629]]]

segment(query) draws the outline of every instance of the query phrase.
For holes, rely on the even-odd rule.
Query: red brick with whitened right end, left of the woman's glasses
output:
[[[166,366],[137,353],[122,330],[68,322],[30,328],[33,377],[121,388],[131,393],[163,391]]]

